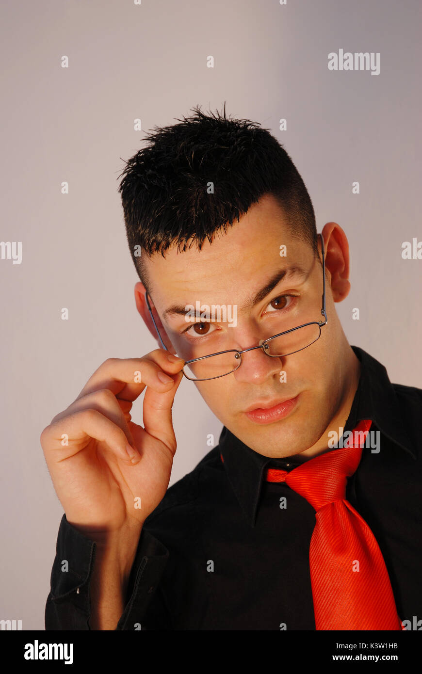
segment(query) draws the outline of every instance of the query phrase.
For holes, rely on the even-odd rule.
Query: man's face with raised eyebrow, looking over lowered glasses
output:
[[[285,256],[280,256],[282,245]],[[165,257],[158,253],[145,263],[156,312],[175,352],[185,360],[257,346],[285,329],[324,320],[322,266],[309,245],[292,237],[272,195],[262,197],[212,244],[206,241],[202,251],[193,245],[180,253],[173,247]],[[270,292],[263,290],[280,270],[292,266],[303,273],[286,274]],[[166,313],[197,302],[225,305],[232,325],[214,318],[206,326],[195,319],[195,326],[187,322],[186,312]],[[216,417],[255,452],[291,456],[307,450],[338,410],[344,396],[346,342],[329,282],[326,311],[328,322],[320,338],[307,348],[279,358],[251,350],[242,355],[236,371],[195,382]]]

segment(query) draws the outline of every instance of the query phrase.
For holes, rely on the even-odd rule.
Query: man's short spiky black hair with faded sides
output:
[[[271,193],[278,199],[291,233],[318,254],[311,199],[289,154],[269,129],[249,119],[205,115],[200,106],[179,124],[154,127],[146,147],[119,175],[127,242],[140,280],[148,288],[142,254],[201,249],[220,229],[239,222],[251,204]],[[213,191],[210,184],[213,185]]]

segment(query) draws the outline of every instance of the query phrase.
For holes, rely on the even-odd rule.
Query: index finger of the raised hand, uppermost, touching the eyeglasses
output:
[[[168,391],[173,388],[173,381],[162,381],[158,374],[175,374],[181,370],[183,363],[162,348],[142,358],[109,358],[88,379],[78,398],[108,388],[117,398],[133,402],[146,386],[158,392]]]

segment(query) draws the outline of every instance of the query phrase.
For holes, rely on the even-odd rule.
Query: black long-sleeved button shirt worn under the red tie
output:
[[[422,390],[391,384],[381,363],[352,348],[361,375],[344,432],[371,419],[380,452],[363,449],[346,497],[380,545],[400,619],[421,619]],[[144,523],[116,629],[315,630],[309,576],[315,510],[285,483],[264,479],[266,468],[296,465],[294,456],[254,452],[223,427],[218,446],[167,490]],[[47,630],[90,629],[95,549],[63,515]],[[62,559],[68,572],[61,571]]]

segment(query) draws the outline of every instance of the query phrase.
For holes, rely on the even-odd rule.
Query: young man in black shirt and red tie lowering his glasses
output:
[[[102,363],[42,431],[65,510],[47,630],[412,629],[422,392],[346,340],[342,228],[317,235],[287,152],[225,108],[158,129],[123,173],[160,348]],[[224,427],[168,489],[183,375]]]

